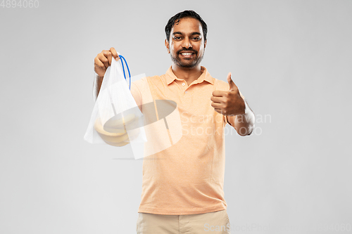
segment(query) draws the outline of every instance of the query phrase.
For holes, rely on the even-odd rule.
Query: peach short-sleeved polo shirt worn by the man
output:
[[[205,67],[201,67],[201,72],[189,86],[175,76],[171,67],[161,76],[132,83],[131,93],[137,105],[173,100],[180,113],[176,120],[169,119],[167,123],[170,147],[144,157],[138,212],[202,214],[227,207],[223,191],[227,119],[211,107],[210,97],[215,90],[228,91],[229,84],[211,77]],[[143,109],[142,112],[145,115]],[[179,138],[172,138],[173,129],[180,130]],[[146,128],[146,135],[148,141],[169,142],[168,136],[158,138],[158,129]]]

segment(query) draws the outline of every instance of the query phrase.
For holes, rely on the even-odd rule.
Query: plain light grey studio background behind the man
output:
[[[132,75],[164,74],[185,9],[208,24],[202,65],[232,72],[257,116],[252,136],[227,126],[234,233],[352,225],[352,1],[39,0],[0,7],[0,233],[135,233],[142,160],[83,141],[94,57],[113,46]]]

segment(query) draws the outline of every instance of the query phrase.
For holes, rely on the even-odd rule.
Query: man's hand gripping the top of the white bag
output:
[[[118,61],[118,53],[115,51],[115,48],[111,47],[109,51],[101,51],[94,58],[94,71],[98,74],[99,77],[103,77],[108,66],[111,65],[111,60],[115,59]]]

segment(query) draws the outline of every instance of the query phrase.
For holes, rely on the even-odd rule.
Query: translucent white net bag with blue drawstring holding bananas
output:
[[[131,143],[132,149],[134,143],[146,141],[143,114],[115,59],[103,77],[84,140],[113,146]]]

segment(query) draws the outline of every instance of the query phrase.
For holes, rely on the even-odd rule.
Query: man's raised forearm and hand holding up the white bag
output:
[[[94,58],[94,72],[96,73],[93,85],[94,101],[96,100],[96,98],[98,98],[101,83],[103,83],[104,74],[106,72],[106,69],[108,69],[108,67],[111,65],[111,60],[113,58],[116,61],[120,59],[118,57],[118,53],[113,47],[111,47],[108,51],[101,51],[101,53],[98,53],[98,55]]]

